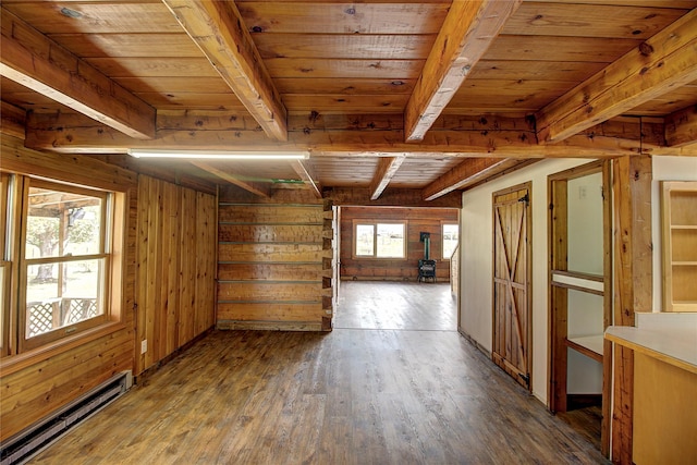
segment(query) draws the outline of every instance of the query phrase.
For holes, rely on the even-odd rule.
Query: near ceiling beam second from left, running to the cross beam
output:
[[[288,111],[235,3],[162,1],[264,132],[276,140],[286,140]]]

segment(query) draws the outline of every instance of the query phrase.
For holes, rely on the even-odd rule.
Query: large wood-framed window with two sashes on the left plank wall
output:
[[[9,184],[16,188],[9,188]],[[118,196],[28,176],[2,175],[3,355],[119,319],[115,297],[120,292],[111,293],[112,277],[119,274],[121,267],[114,260],[113,243],[117,236],[122,238],[121,233],[114,235],[117,198],[123,203],[123,195]],[[21,219],[12,211],[21,212]],[[10,281],[17,284],[10,287]],[[9,351],[8,345],[17,348]]]

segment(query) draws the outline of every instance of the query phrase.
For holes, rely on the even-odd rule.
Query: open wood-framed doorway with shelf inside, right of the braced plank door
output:
[[[549,407],[578,411],[598,445],[609,407],[602,334],[612,315],[610,175],[610,161],[597,161],[550,175],[548,191]]]

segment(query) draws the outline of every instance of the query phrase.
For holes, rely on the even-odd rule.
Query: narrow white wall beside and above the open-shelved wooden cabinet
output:
[[[697,181],[697,157],[653,157],[651,182],[651,236],[653,241],[653,311],[663,309],[662,242],[661,242],[661,181]]]

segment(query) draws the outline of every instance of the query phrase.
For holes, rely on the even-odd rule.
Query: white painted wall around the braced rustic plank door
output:
[[[491,351],[492,250],[494,192],[530,181],[533,192],[533,394],[547,404],[548,244],[547,176],[588,163],[583,159],[547,159],[463,194],[461,215],[461,319],[460,328],[485,350]]]

